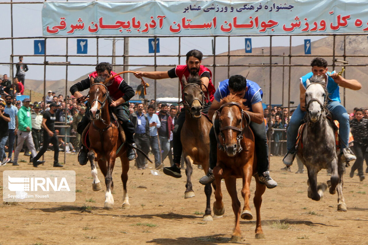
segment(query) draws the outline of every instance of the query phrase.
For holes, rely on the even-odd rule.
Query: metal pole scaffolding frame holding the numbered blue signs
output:
[[[181,38],[192,38],[192,37],[210,37],[213,38],[212,41],[212,50],[213,50],[213,54],[208,54],[205,55],[205,57],[212,57],[213,58],[213,62],[212,64],[208,64],[206,65],[207,67],[212,67],[212,81],[213,84],[216,86],[216,68],[218,67],[227,67],[227,77],[230,76],[230,68],[231,67],[268,67],[269,68],[269,102],[268,104],[271,105],[272,104],[272,98],[271,98],[271,94],[272,94],[272,68],[274,67],[282,67],[283,69],[283,78],[284,78],[284,69],[285,68],[289,68],[289,75],[288,75],[288,100],[287,100],[287,106],[284,105],[285,107],[290,108],[290,84],[291,84],[291,67],[309,67],[309,64],[292,64],[292,58],[293,57],[315,57],[315,55],[312,54],[305,54],[305,55],[300,55],[300,54],[292,54],[291,53],[291,47],[292,47],[292,37],[293,36],[332,36],[333,37],[333,53],[332,54],[323,54],[321,55],[321,57],[332,57],[333,63],[332,63],[332,68],[333,70],[335,69],[335,67],[348,67],[348,66],[356,66],[356,67],[365,67],[368,64],[367,63],[360,63],[360,64],[349,64],[346,61],[346,58],[355,58],[355,57],[360,57],[360,58],[366,58],[368,57],[368,55],[349,55],[346,54],[346,36],[358,36],[358,35],[364,35],[366,36],[367,34],[362,33],[362,34],[323,34],[323,33],[318,33],[318,34],[302,34],[302,35],[203,35],[203,36],[190,36],[190,35],[141,35],[141,36],[129,36],[129,35],[115,35],[115,36],[33,36],[33,37],[14,37],[13,36],[13,4],[43,4],[44,2],[28,2],[28,1],[24,1],[24,2],[13,2],[13,0],[10,0],[10,2],[0,2],[0,5],[2,4],[10,4],[11,5],[11,36],[10,37],[1,37],[0,40],[11,40],[11,62],[6,63],[6,62],[2,62],[0,61],[0,65],[10,65],[11,67],[11,75],[12,78],[14,77],[14,69],[13,66],[16,65],[17,63],[14,63],[14,57],[17,56],[24,56],[24,57],[44,57],[44,61],[43,63],[24,63],[27,65],[43,65],[44,68],[44,74],[43,74],[43,95],[46,94],[46,67],[50,66],[50,65],[58,65],[58,66],[65,66],[66,67],[66,75],[65,75],[65,79],[66,79],[66,85],[65,85],[65,97],[68,95],[68,88],[67,88],[67,81],[68,81],[68,67],[69,66],[95,66],[96,64],[99,63],[99,58],[100,57],[111,57],[111,58],[116,58],[116,57],[123,57],[123,64],[113,64],[114,67],[123,67],[124,70],[126,70],[126,68],[128,67],[154,67],[154,70],[156,71],[158,67],[167,67],[167,66],[173,66],[173,64],[164,64],[164,65],[158,65],[157,64],[157,58],[159,57],[177,57],[178,58],[178,63],[180,64],[180,58],[181,57],[185,57],[185,55],[181,54],[180,49],[181,49]],[[269,38],[269,54],[244,54],[244,55],[235,55],[235,54],[231,54],[231,50],[230,50],[230,38],[231,37],[256,37],[256,36],[265,36]],[[273,54],[272,53],[272,40],[273,38],[277,37],[277,36],[289,36],[289,54],[285,54],[283,53],[281,54]],[[343,44],[343,54],[336,54],[336,37],[337,36],[343,36],[344,38],[344,44]],[[216,38],[223,38],[223,37],[227,37],[227,54],[216,54],[215,50],[216,50]],[[58,38],[58,39],[65,39],[66,40],[66,52],[65,54],[62,55],[56,55],[56,54],[47,54],[47,50],[46,50],[46,42],[48,39],[54,39],[54,38]],[[85,39],[96,39],[96,55],[70,55],[68,54],[68,40],[70,38],[85,38]],[[101,38],[124,38],[124,53],[122,55],[100,55],[99,54],[99,39]],[[155,53],[152,55],[131,55],[128,53],[128,49],[125,46],[125,42],[128,39],[132,39],[132,38],[154,38],[155,41],[157,38],[178,38],[178,52],[177,54],[173,54],[173,55],[160,55],[158,53],[156,53],[156,49],[155,49]],[[26,54],[14,54],[14,40],[16,39],[43,39],[45,40],[45,54],[44,55],[26,55]],[[47,61],[48,57],[65,57],[65,61],[64,62],[49,62]],[[77,64],[77,63],[72,63],[68,60],[69,57],[92,57],[92,58],[96,58],[96,63],[95,64]],[[138,57],[138,58],[144,58],[144,57],[153,57],[154,58],[154,63],[153,64],[130,64],[128,62],[128,59],[130,57]],[[220,57],[227,57],[227,64],[216,64],[216,58],[220,58]],[[268,57],[269,58],[269,63],[261,63],[261,64],[230,64],[230,58],[231,57]],[[277,64],[277,63],[273,63],[273,58],[275,57],[282,57],[283,61],[285,58],[289,58],[288,60],[288,64]],[[337,64],[338,62],[341,62],[343,64]],[[124,74],[125,75],[125,74]],[[345,75],[345,73],[344,73]],[[157,81],[155,80],[155,100],[157,98]],[[283,85],[284,85],[284,81],[283,81]],[[180,86],[178,86],[178,98],[180,98]],[[14,89],[14,83],[13,83],[13,89]],[[343,90],[343,103],[345,106],[345,89]],[[284,103],[284,87],[283,87],[283,93],[282,93],[282,102]],[[66,123],[67,124],[67,123]],[[66,136],[65,136],[66,137]],[[66,138],[65,138],[66,139]],[[66,142],[66,141],[65,141]],[[66,159],[66,155],[64,153],[64,162]]]

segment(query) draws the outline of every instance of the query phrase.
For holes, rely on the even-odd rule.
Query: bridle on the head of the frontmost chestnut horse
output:
[[[220,118],[221,111],[222,111],[222,109],[225,106],[237,106],[239,108],[240,113],[241,113],[240,128],[234,127],[234,126],[221,127],[221,125],[220,125],[220,132],[219,133],[220,133],[220,135],[222,137],[222,140],[223,140],[223,144],[221,145],[220,142],[219,142],[219,139],[217,137],[218,134],[216,133],[215,126],[213,126],[213,130],[215,131],[215,135],[216,135],[217,145],[218,145],[218,147],[219,147],[220,150],[222,150],[222,151],[225,152],[226,151],[225,150],[225,136],[224,136],[224,134],[223,134],[222,131],[224,131],[226,129],[235,130],[235,131],[238,132],[237,133],[237,136],[236,136],[236,140],[237,140],[237,143],[236,143],[236,145],[237,145],[236,151],[237,151],[237,153],[240,153],[243,150],[243,148],[241,147],[240,141],[243,139],[243,134],[245,132],[245,129],[248,128],[248,126],[250,124],[250,121],[251,121],[251,118],[250,118],[249,114],[245,110],[241,109],[241,107],[243,106],[242,104],[237,103],[237,102],[227,102],[227,103],[222,104],[220,106],[220,108],[218,110],[216,110],[215,114],[213,114],[213,117],[212,117],[212,125],[215,125],[216,116],[218,116]],[[245,115],[247,115],[248,118],[245,117]],[[245,125],[245,127],[243,127],[243,118],[247,122],[246,125]]]

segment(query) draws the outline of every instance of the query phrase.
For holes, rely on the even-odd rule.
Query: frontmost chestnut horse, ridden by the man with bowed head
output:
[[[216,182],[216,201],[213,203],[213,213],[217,216],[222,216],[225,212],[221,193],[221,179],[223,178],[227,191],[230,194],[235,214],[235,229],[231,241],[240,242],[239,218],[246,220],[253,218],[249,206],[249,186],[253,175],[256,180],[256,190],[253,199],[257,216],[255,237],[263,238],[260,211],[262,194],[265,192],[266,186],[260,184],[258,180],[254,135],[249,127],[250,117],[245,112],[242,100],[235,95],[229,95],[223,99],[220,109],[217,110],[217,115],[219,117],[220,132],[215,133],[220,133],[218,142],[221,149],[217,150],[217,164],[213,169]],[[243,180],[243,188],[241,189],[241,195],[244,198],[243,211],[240,209],[240,202],[237,197],[237,178],[242,178]]]

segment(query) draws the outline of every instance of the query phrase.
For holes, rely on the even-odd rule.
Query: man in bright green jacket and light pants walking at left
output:
[[[35,144],[32,138],[32,120],[31,120],[31,107],[29,107],[29,98],[25,98],[23,101],[23,106],[18,110],[18,142],[17,148],[14,152],[13,166],[18,166],[18,155],[22,149],[23,143],[25,141],[28,149],[31,150],[32,157],[37,155]],[[33,163],[33,167],[44,163],[45,161],[37,161]]]

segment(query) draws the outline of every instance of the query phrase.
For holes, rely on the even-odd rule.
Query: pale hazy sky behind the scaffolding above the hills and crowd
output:
[[[4,0],[10,1],[10,0]],[[21,1],[21,0],[15,0]],[[40,2],[40,1],[34,1]],[[1,6],[1,22],[0,22],[0,38],[11,37],[11,14],[10,4],[0,4]],[[34,37],[42,36],[42,19],[41,19],[42,4],[13,4],[13,36],[14,37]],[[123,38],[123,37],[122,37]],[[304,44],[305,36],[294,36],[292,39],[293,46]],[[307,39],[312,41],[322,38],[321,36],[309,36]],[[20,39],[14,40],[14,55],[22,55],[24,63],[43,63],[43,57],[26,57],[33,54],[33,40],[35,39]],[[181,39],[181,54],[187,53],[191,49],[201,50],[206,55],[212,54],[212,38],[182,38]],[[65,54],[66,39],[47,39],[46,54]],[[289,36],[274,37],[272,39],[273,46],[289,46]],[[123,54],[123,40],[116,43],[116,55]],[[252,37],[252,46],[263,47],[269,46],[269,37],[260,36]],[[11,41],[0,40],[0,63],[10,62]],[[232,37],[230,39],[230,49],[244,49],[244,37]],[[77,53],[77,41],[74,38],[69,38],[68,54]],[[148,55],[148,40],[147,38],[130,38],[129,52],[131,55]],[[227,52],[227,37],[216,38],[216,54]],[[178,38],[160,38],[160,54],[175,55],[178,53]],[[88,39],[88,54],[96,54],[96,39]],[[99,39],[99,55],[112,54],[112,41]],[[47,61],[65,61],[64,57],[47,57]],[[70,57],[69,61],[74,64],[95,64],[96,58],[93,57]],[[112,61],[111,58],[100,57],[99,62]],[[178,64],[177,57],[158,58],[159,65]],[[18,57],[14,57],[14,62],[18,62]],[[130,64],[147,65],[153,64],[153,58],[130,58]],[[123,58],[116,58],[117,64],[123,64]],[[185,58],[181,59],[181,64],[185,63]],[[136,66],[131,69],[137,68]],[[14,66],[15,69],[15,66]],[[93,71],[93,66],[69,66],[68,80],[73,81],[87,72]],[[9,74],[9,65],[0,64],[0,74]],[[15,74],[15,70],[14,70]],[[46,79],[57,80],[65,79],[66,70],[64,66],[47,66]],[[29,71],[26,72],[26,79],[43,79],[43,65],[29,65]]]

